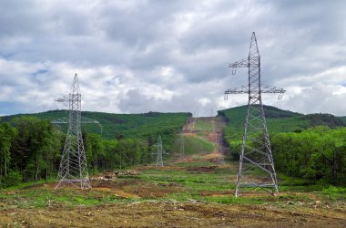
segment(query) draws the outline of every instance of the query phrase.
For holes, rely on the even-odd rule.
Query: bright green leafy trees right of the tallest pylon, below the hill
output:
[[[277,133],[271,146],[277,171],[311,184],[346,185],[346,128]]]

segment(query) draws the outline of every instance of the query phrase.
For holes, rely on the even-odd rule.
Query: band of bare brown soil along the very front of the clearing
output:
[[[0,212],[10,227],[345,227],[345,214],[325,209],[294,210],[267,205],[201,202],[133,202],[74,209]]]

